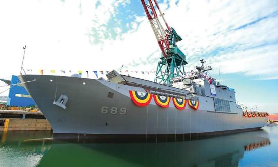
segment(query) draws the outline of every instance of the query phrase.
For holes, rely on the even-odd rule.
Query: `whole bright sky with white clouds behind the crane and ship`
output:
[[[278,112],[278,1],[158,2],[188,70],[204,58],[239,102]],[[23,45],[34,71],[151,71],[160,57],[140,1],[2,1],[0,21],[0,78],[19,73]]]

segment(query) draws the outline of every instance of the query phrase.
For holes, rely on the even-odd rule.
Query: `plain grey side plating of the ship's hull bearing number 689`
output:
[[[239,109],[215,112],[212,98],[199,97],[199,109],[155,104],[136,106],[129,90],[143,88],[108,81],[47,75],[21,75],[24,87],[50,122],[56,138],[184,138],[249,131],[264,127],[266,117],[247,118]],[[111,94],[113,96],[111,97]],[[60,95],[66,109],[53,102]],[[125,112],[126,111],[126,112]]]

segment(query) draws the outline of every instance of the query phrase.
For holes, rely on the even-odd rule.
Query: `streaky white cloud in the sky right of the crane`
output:
[[[277,10],[273,1],[180,1],[165,17],[183,37],[187,67],[205,57],[216,71],[272,79],[278,77]]]

